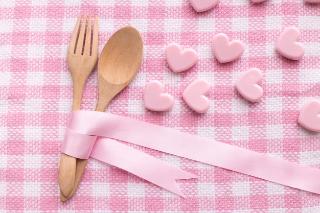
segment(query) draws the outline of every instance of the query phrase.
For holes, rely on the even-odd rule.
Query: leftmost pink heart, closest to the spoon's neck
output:
[[[173,98],[168,93],[164,92],[164,86],[157,80],[150,81],[144,93],[144,106],[153,111],[167,111],[173,107]]]

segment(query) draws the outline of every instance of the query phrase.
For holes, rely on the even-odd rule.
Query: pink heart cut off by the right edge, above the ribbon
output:
[[[300,110],[298,123],[308,130],[320,132],[320,101],[308,101]]]

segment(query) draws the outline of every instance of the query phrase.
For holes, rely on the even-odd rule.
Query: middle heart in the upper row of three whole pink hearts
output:
[[[229,41],[224,33],[216,34],[212,39],[212,50],[220,63],[239,58],[244,52],[244,44],[240,40]]]

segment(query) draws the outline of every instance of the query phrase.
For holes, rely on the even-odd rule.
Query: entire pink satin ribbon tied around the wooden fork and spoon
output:
[[[169,169],[170,164],[110,138],[320,194],[319,169],[213,139],[120,115],[95,111],[73,111],[67,127],[62,152],[77,157],[82,153],[81,150],[86,150],[83,153],[90,154],[82,153],[79,155],[80,158],[87,159],[86,157],[90,155],[180,196],[183,196],[183,193],[174,179],[196,176],[178,168],[173,169],[173,166]],[[89,135],[98,135],[98,137]],[[158,165],[162,163],[159,169]],[[171,170],[174,171],[172,172],[174,175],[171,175]]]

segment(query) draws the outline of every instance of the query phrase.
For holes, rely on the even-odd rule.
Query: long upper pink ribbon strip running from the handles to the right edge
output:
[[[68,127],[320,194],[320,170],[120,115],[73,111]]]

